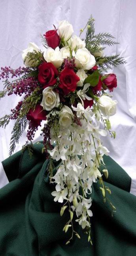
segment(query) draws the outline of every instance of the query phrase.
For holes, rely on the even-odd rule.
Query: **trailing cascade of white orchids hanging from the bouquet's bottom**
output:
[[[52,195],[55,202],[63,203],[66,200],[71,203],[70,211],[76,211],[76,221],[84,229],[86,226],[90,227],[89,217],[92,216],[91,186],[97,177],[101,177],[98,168],[100,162],[103,162],[103,155],[107,155],[109,151],[100,141],[100,135],[106,136],[107,132],[99,128],[91,109],[84,109],[81,103],[72,109],[76,112],[79,124],[72,122],[74,115],[69,107],[64,106],[59,113],[59,150],[57,146],[48,150],[56,161],[62,159],[53,177],[56,190]],[[53,142],[52,137],[51,143]]]

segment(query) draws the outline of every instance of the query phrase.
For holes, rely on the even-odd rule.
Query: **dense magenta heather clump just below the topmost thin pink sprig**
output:
[[[38,87],[38,80],[34,77],[28,77],[19,81],[15,81],[12,84],[12,89],[9,87],[9,93],[21,96],[23,93],[30,95]]]

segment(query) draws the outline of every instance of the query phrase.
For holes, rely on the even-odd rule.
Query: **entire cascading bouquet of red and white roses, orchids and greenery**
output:
[[[85,29],[83,40],[80,37]],[[79,37],[72,36],[73,32],[68,21],[60,21],[57,29],[54,26],[43,35],[44,52],[29,43],[22,54],[26,67],[16,70],[5,67],[0,73],[0,79],[4,79],[0,97],[7,93],[24,95],[9,115],[0,118],[0,126],[4,127],[10,120],[16,120],[9,154],[13,153],[26,127],[27,141],[23,148],[27,147],[31,154],[35,132],[43,124],[42,152],[46,152],[49,159],[50,182],[55,183],[52,196],[55,202],[62,204],[60,215],[65,210],[70,214],[63,229],[67,232],[72,228],[72,236],[66,244],[74,234],[80,238],[74,231],[74,214],[91,242],[93,182],[100,182],[104,202],[108,200],[107,193],[111,194],[102,179],[103,175],[108,177],[107,168],[101,171],[101,165],[104,165],[103,155],[109,151],[102,145],[100,136],[110,132],[115,138],[109,117],[115,114],[117,101],[111,99],[108,90],[111,92],[117,87],[117,79],[115,74],[106,72],[125,63],[119,55],[104,55],[104,45],[112,46],[116,42],[109,33],[94,33],[92,16],[80,30]],[[100,124],[104,127],[100,128]],[[57,164],[57,171],[53,173]],[[115,211],[111,202],[110,206],[112,212]]]

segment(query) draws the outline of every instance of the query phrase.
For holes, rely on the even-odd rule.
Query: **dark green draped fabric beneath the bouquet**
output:
[[[32,158],[19,151],[3,161],[9,184],[0,189],[0,256],[133,256],[136,255],[136,197],[130,194],[131,179],[110,157],[104,157],[111,189],[110,200],[117,208],[104,204],[99,183],[94,184],[91,238],[75,224],[81,239],[62,229],[68,213],[60,217],[61,204],[53,201],[53,185],[47,178],[42,143],[34,145]]]

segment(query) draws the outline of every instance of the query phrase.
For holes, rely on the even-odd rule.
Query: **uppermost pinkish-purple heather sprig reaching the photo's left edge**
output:
[[[0,71],[0,80],[1,79],[8,79],[9,76],[11,78],[17,78],[22,76],[23,74],[28,74],[30,72],[30,68],[25,68],[25,67],[19,67],[15,70],[13,70],[10,66],[9,67],[1,67]]]

